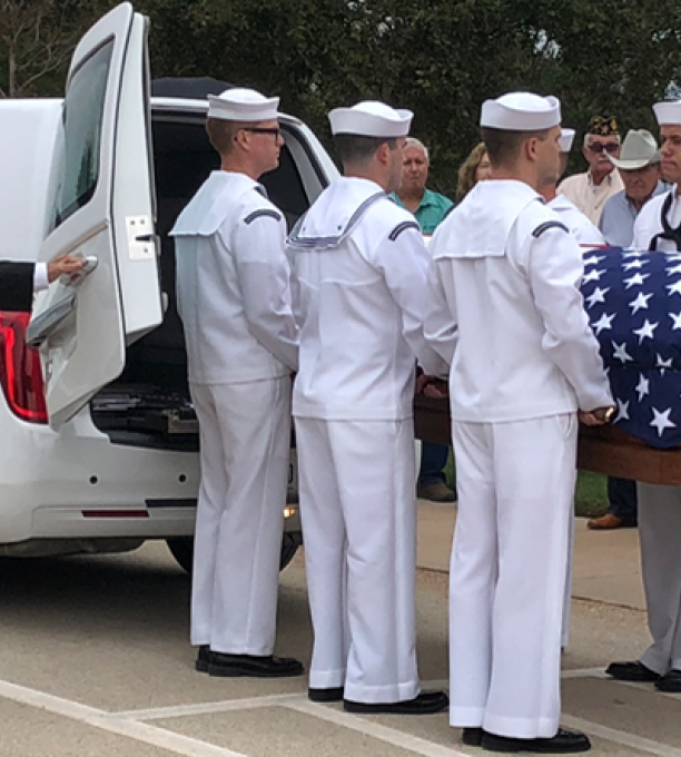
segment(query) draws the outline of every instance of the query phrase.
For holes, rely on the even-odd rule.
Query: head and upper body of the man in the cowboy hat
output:
[[[632,129],[622,144],[620,157],[609,157],[620,171],[624,189],[605,203],[600,228],[608,244],[629,247],[641,208],[668,189],[661,180],[660,150],[650,131]]]

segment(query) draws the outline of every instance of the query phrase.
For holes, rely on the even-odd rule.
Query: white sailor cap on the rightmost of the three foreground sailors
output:
[[[561,101],[531,92],[510,92],[485,100],[480,125],[504,131],[542,131],[561,122]]]

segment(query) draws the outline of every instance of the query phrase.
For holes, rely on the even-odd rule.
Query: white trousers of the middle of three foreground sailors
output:
[[[393,702],[418,694],[413,421],[296,419],[314,629],[309,685]]]

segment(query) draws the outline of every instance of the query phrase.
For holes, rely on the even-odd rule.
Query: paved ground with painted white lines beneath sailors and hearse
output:
[[[446,685],[447,677],[447,543],[428,529],[445,532],[452,512],[424,507],[420,514],[420,563],[428,566],[420,570],[417,592],[425,687]],[[580,560],[590,553],[585,539],[578,539],[575,586],[593,583],[598,572],[586,564],[593,554]],[[608,544],[618,539],[626,545],[635,533],[590,542],[604,579]],[[623,589],[616,601],[599,597],[608,583],[595,589],[595,599],[573,604],[563,724],[591,735],[592,755],[681,757],[681,697],[602,674],[612,659],[634,659],[648,643],[640,588],[633,586],[631,602],[622,601]],[[164,543],[125,556],[0,560],[0,757],[491,754],[462,747],[446,714],[358,717],[309,702],[305,678],[197,674],[188,607],[189,580]],[[309,661],[302,554],[282,574],[277,651]]]

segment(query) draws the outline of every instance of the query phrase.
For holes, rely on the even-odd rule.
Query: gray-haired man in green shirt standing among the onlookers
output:
[[[392,197],[414,214],[422,232],[431,236],[454,207],[448,197],[426,189],[428,150],[418,139],[407,137],[404,148],[402,186]],[[421,471],[416,493],[432,502],[454,502],[456,494],[447,486],[444,468],[450,448],[445,444],[421,445]]]

